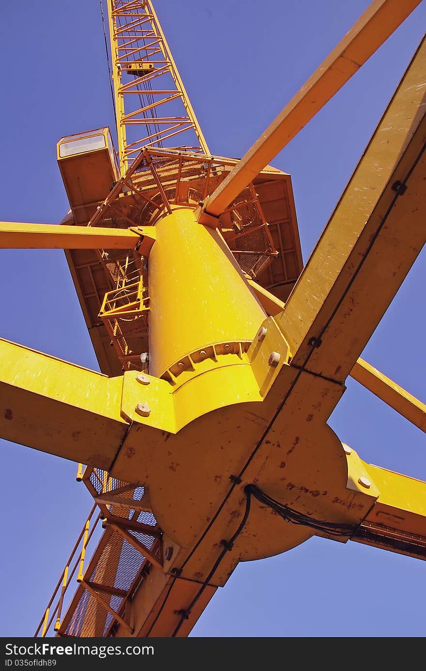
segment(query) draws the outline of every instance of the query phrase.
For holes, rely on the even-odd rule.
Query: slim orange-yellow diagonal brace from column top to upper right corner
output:
[[[301,90],[209,198],[200,221],[214,225],[235,197],[401,25],[421,0],[374,0]],[[209,218],[210,215],[210,218]]]

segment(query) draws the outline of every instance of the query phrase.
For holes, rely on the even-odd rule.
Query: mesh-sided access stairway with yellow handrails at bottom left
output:
[[[95,504],[35,636],[109,636],[116,625],[129,632],[124,619],[129,595],[151,568],[163,568],[162,533],[144,488],[99,468],[83,469],[83,464],[78,464],[76,480],[85,482]],[[77,587],[69,596],[73,578]]]

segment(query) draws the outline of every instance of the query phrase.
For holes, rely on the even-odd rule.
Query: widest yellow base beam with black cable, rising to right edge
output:
[[[426,40],[276,316],[292,365],[343,382],[426,238]]]

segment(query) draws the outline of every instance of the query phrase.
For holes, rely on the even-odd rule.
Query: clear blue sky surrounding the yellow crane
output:
[[[367,5],[157,0],[211,152],[244,154]],[[425,24],[423,2],[273,161],[292,175],[305,260]],[[0,218],[57,223],[68,203],[56,142],[114,125],[98,0],[5,3],[0,54]],[[0,262],[0,336],[97,370],[63,253],[1,250]],[[363,355],[423,400],[425,285],[423,253]],[[364,460],[426,480],[424,435],[353,380],[330,423]],[[91,497],[74,464],[4,441],[0,449],[0,635],[32,635]],[[419,560],[313,538],[241,564],[193,635],[422,636],[425,571]]]

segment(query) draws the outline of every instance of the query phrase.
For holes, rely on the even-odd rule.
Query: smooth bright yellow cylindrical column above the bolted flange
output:
[[[176,209],[150,252],[150,374],[220,343],[253,340],[264,309],[218,232]],[[226,347],[226,345],[225,345]]]

